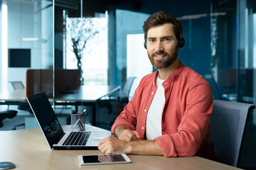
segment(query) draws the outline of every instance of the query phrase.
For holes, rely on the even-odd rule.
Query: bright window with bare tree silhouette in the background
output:
[[[83,84],[107,84],[107,14],[67,18],[66,68],[81,69]]]

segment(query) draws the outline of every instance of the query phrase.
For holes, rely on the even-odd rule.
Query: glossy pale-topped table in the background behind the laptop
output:
[[[75,106],[78,111],[78,106],[92,106],[92,125],[96,125],[97,100],[103,96],[112,94],[114,91],[119,91],[120,86],[80,86],[73,94],[60,94],[55,96],[55,105],[60,106]],[[28,105],[26,98],[26,90],[2,91],[0,93],[0,105]],[[53,98],[49,98],[53,103]]]

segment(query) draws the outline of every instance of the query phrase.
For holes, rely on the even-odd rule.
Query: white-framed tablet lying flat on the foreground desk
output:
[[[127,154],[93,154],[93,155],[78,155],[80,165],[93,164],[127,164],[131,163]]]

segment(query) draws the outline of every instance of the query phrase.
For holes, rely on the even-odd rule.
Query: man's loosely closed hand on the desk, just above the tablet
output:
[[[98,148],[103,154],[128,153],[127,141],[119,140],[117,137],[107,137],[98,142]]]

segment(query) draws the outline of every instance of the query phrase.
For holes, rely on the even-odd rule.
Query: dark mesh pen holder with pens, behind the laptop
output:
[[[70,116],[71,116],[71,130],[73,131],[85,130],[85,114],[70,113]]]

